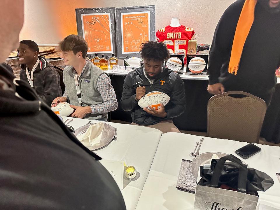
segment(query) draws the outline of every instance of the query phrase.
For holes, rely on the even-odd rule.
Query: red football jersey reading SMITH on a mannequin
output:
[[[157,41],[164,42],[170,53],[185,53],[185,61],[188,52],[188,41],[195,34],[192,28],[183,25],[179,27],[167,26],[156,32]]]

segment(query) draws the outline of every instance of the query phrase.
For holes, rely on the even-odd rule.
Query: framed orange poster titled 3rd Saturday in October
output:
[[[141,44],[155,41],[155,6],[116,8],[116,21],[118,57],[141,57]]]

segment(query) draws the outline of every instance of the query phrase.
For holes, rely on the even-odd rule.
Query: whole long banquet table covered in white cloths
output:
[[[63,117],[64,121],[68,117]],[[69,125],[74,129],[86,125],[89,120],[73,119]],[[91,123],[100,122],[91,120]],[[69,121],[68,121],[69,122]],[[166,133],[157,129],[136,125],[106,122],[117,128],[117,141],[95,153],[105,160],[123,160],[133,165],[140,177],[128,181],[124,178],[121,190],[128,210],[142,209],[192,209],[194,194],[176,189],[181,160],[192,160],[190,152],[201,136]],[[214,139],[204,137],[200,154],[204,152],[223,152],[234,154],[234,151],[246,142]],[[259,202],[274,205],[280,209],[280,183],[275,173],[280,173],[280,147],[258,145],[262,151],[247,160],[251,168],[267,173],[274,180],[274,185],[266,192],[259,192]]]

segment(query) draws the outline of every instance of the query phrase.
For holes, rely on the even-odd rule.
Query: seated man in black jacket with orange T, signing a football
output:
[[[148,41],[141,45],[140,53],[144,58],[144,65],[131,71],[123,84],[123,110],[132,111],[132,125],[156,128],[163,133],[180,133],[172,118],[181,115],[185,110],[185,89],[181,77],[164,66],[169,51],[163,42]],[[151,107],[151,110],[141,108],[138,101],[151,91],[166,93],[170,101],[166,106],[161,104],[158,110]]]

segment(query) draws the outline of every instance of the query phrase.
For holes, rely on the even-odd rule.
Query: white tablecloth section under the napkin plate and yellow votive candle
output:
[[[65,120],[67,117],[63,117],[63,119]],[[69,119],[73,119],[69,125],[73,126],[74,129],[86,125],[90,121],[78,118]],[[91,121],[91,123],[100,122]],[[106,123],[117,128],[118,140],[112,141],[108,146],[94,152],[106,160],[123,160],[127,165],[133,165],[136,171],[140,173],[140,177],[135,181],[124,179],[124,188],[120,190],[127,210],[135,209],[162,132],[157,129],[137,125]]]

